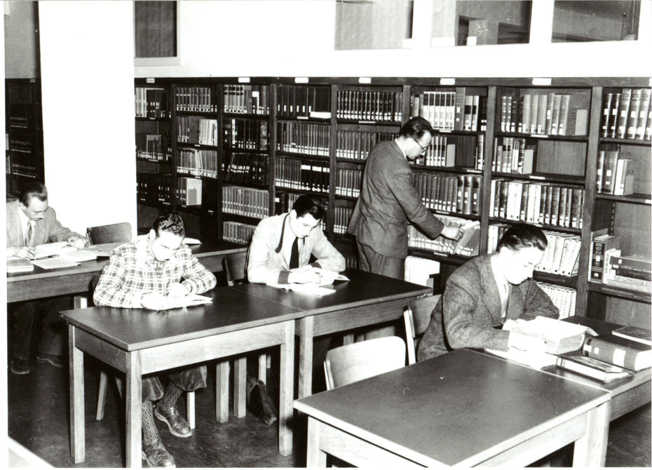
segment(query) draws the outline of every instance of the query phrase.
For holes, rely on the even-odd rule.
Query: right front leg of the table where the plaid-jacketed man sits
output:
[[[280,373],[278,387],[278,452],[292,454],[292,397],[294,396],[294,323],[285,322],[283,344],[280,345]]]

